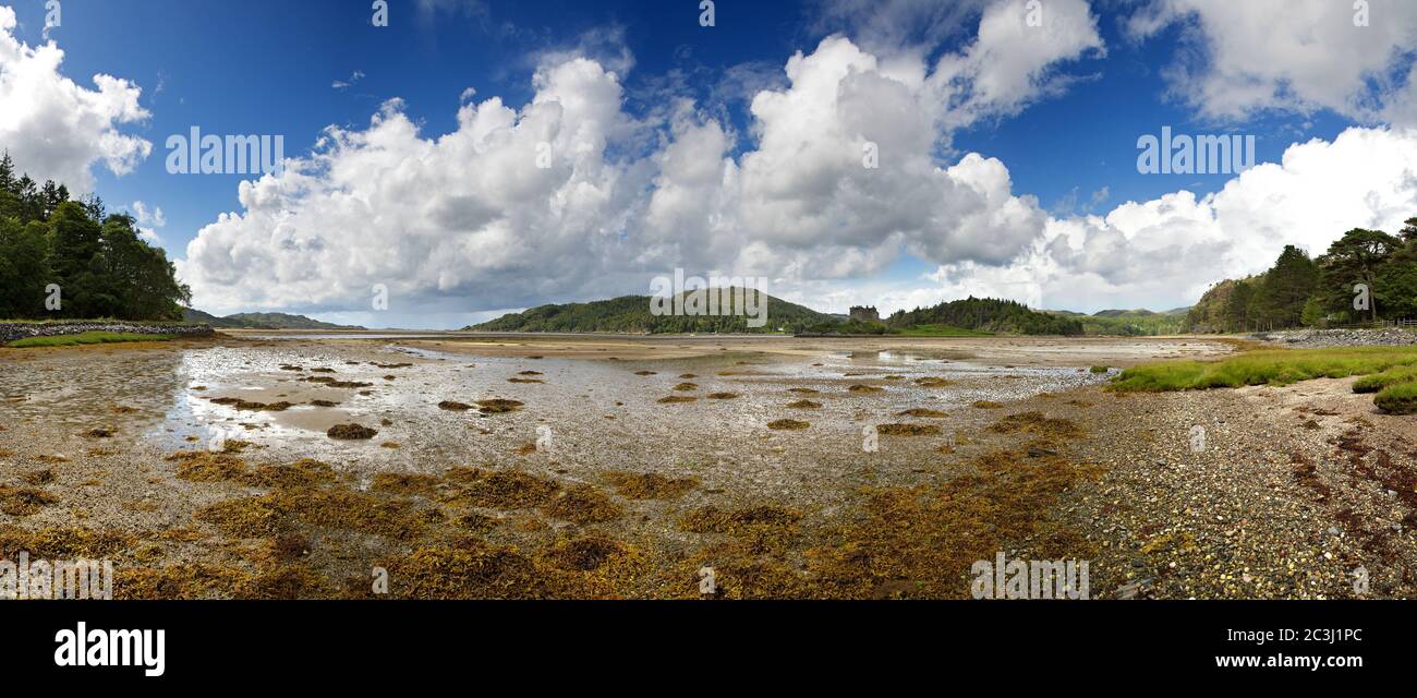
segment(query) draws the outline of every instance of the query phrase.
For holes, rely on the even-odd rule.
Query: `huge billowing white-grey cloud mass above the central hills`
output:
[[[871,275],[901,251],[1003,265],[1046,216],[998,159],[941,162],[935,146],[948,115],[1017,109],[1049,89],[1044,55],[1097,45],[1085,3],[1054,6],[1073,38],[1013,64],[1017,79],[992,64],[1024,41],[1013,28],[983,31],[948,68],[828,37],[752,98],[748,133],[687,98],[638,119],[616,71],[570,55],[544,58],[529,104],[466,104],[441,136],[395,99],[366,129],[329,128],[283,174],[244,182],[242,210],[205,226],[180,271],[218,311],[356,308],[385,284],[404,312],[432,312],[645,292],[674,267],[791,288]],[[992,14],[1005,10],[982,26],[1012,21]]]

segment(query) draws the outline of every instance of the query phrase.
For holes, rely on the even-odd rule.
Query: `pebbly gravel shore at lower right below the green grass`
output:
[[[1414,426],[1350,383],[1100,394],[1078,455],[1107,472],[1061,505],[1100,545],[1098,594],[1417,593]]]

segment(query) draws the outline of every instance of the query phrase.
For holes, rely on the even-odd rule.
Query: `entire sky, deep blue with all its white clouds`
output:
[[[1169,309],[1417,216],[1414,57],[1404,0],[0,0],[0,149],[222,315]],[[184,173],[193,128],[281,167]],[[1144,172],[1163,129],[1253,152]]]

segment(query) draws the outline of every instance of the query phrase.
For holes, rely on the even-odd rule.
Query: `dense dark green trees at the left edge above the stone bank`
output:
[[[55,298],[58,309],[47,299]],[[69,199],[64,184],[16,177],[0,159],[0,318],[181,319],[191,291],[136,221],[109,214],[98,196]]]

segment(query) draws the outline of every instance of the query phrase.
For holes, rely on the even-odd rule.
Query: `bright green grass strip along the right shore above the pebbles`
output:
[[[1265,349],[1213,362],[1148,363],[1118,375],[1112,390],[1168,392],[1209,387],[1287,386],[1316,377],[1348,377],[1417,366],[1417,346]]]

